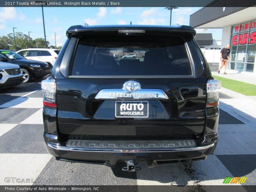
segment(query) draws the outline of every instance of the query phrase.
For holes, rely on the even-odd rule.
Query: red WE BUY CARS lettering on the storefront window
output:
[[[256,20],[235,26],[235,32],[256,28]],[[256,31],[236,34],[232,37],[232,45],[255,44]]]

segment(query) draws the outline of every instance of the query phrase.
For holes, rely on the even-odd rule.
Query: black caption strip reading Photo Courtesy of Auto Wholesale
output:
[[[162,191],[195,191],[195,192],[217,192],[217,191],[225,191],[225,192],[234,192],[234,191],[248,191],[255,192],[256,185],[221,185],[221,186],[210,186],[210,185],[187,185],[187,186],[177,186],[177,185],[161,185],[161,186],[144,186],[144,185],[115,185],[115,186],[76,186],[76,185],[59,185],[59,186],[26,186],[26,185],[14,185],[14,186],[0,186],[1,192],[82,192],[82,191],[92,191],[92,192],[133,192],[133,191],[141,191],[141,192],[162,192]]]

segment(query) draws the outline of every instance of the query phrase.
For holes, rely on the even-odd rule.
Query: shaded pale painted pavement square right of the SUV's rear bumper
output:
[[[256,130],[247,124],[220,124],[218,133],[215,155],[256,154]]]

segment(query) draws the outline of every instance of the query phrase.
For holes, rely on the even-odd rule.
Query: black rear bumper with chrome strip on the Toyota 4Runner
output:
[[[75,161],[93,164],[104,164],[114,167],[119,160],[146,160],[149,167],[162,164],[174,164],[180,161],[192,159],[203,160],[214,151],[215,142],[186,148],[150,148],[150,149],[113,149],[113,148],[85,148],[61,146],[54,142],[52,136],[44,134],[47,151],[58,160]],[[56,140],[57,141],[57,140]]]

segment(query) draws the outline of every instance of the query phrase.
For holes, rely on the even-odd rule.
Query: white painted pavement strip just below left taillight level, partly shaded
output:
[[[43,98],[34,98],[34,97],[19,97],[17,99],[11,100],[3,105],[0,105],[0,108],[42,108],[43,107]]]

